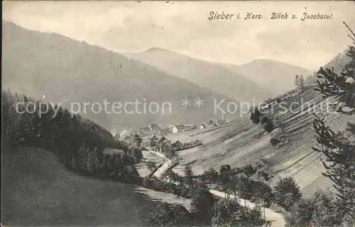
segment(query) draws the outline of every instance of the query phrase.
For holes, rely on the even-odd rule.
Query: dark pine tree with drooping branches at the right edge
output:
[[[344,23],[345,24],[345,23]],[[343,104],[354,108],[355,104],[355,33],[351,31],[349,37],[353,40],[353,45],[349,46],[347,55],[351,61],[345,65],[343,72],[337,74],[332,69],[320,68],[318,77],[322,81],[317,81],[316,90],[322,92],[324,97],[335,96]],[[346,114],[354,114],[350,111]],[[323,173],[334,182],[337,189],[337,204],[340,213],[350,216],[355,222],[355,143],[347,139],[342,132],[334,132],[324,123],[324,119],[316,116],[313,121],[318,145],[313,150],[322,153],[326,159],[322,160],[327,172]],[[349,123],[346,131],[355,135],[354,124]]]

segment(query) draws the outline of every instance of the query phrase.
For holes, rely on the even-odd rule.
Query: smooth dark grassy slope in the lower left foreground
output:
[[[67,171],[38,148],[1,151],[4,226],[144,226],[154,204],[131,184]]]

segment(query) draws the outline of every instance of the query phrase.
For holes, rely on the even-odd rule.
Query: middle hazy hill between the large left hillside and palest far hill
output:
[[[263,101],[274,94],[269,88],[258,86],[241,74],[231,72],[217,63],[204,62],[178,52],[151,48],[143,52],[124,55],[232,99]]]

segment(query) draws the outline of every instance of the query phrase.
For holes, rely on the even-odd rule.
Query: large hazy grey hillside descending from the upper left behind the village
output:
[[[54,33],[29,31],[6,21],[2,25],[4,89],[62,102],[67,109],[71,109],[70,103],[78,102],[80,114],[108,129],[121,131],[148,123],[200,123],[217,117],[214,99],[226,98],[95,45]],[[192,105],[182,108],[185,98],[192,99]],[[197,98],[204,100],[204,106],[193,105]],[[104,112],[105,100],[110,103],[107,106],[111,114]],[[86,110],[84,102],[91,103]],[[93,106],[94,102],[99,104]],[[115,102],[119,102],[116,106],[121,105],[120,109],[112,109]],[[138,111],[135,102],[142,103]],[[168,105],[163,105],[167,102],[171,112]],[[152,104],[151,111],[149,104]],[[72,111],[77,110],[78,105],[73,104]]]

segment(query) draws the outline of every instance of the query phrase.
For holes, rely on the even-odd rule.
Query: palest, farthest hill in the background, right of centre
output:
[[[307,76],[313,70],[307,70],[295,65],[275,60],[258,59],[243,65],[222,64],[223,67],[244,75],[252,82],[265,88],[272,88],[273,92],[282,94],[295,87],[295,75]]]

